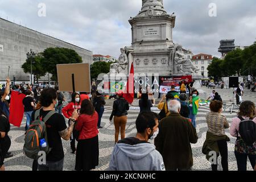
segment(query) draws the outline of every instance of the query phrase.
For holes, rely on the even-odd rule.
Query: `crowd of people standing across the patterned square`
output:
[[[181,87],[184,89],[184,85],[181,84]],[[38,88],[35,87],[35,89]],[[25,154],[34,149],[33,144],[32,148],[25,148],[26,142],[30,142],[28,138],[31,137],[31,131],[35,131],[37,127],[33,122],[45,121],[46,134],[44,138],[39,138],[40,147],[45,147],[42,142],[44,141],[50,150],[46,155],[46,164],[39,164],[37,158],[34,158],[32,169],[63,170],[64,150],[61,139],[71,140],[71,150],[76,154],[75,170],[95,169],[99,165],[98,133],[102,128],[101,117],[106,104],[104,97],[97,90],[92,100],[86,93],[73,93],[72,101],[63,107],[64,96],[61,92],[53,88],[35,89],[27,86],[23,92],[20,85],[16,85],[13,89],[15,92],[23,92],[26,95],[23,100],[27,118]],[[189,89],[191,91],[187,95],[185,92],[177,92],[175,86],[172,86],[171,91],[164,94],[158,104],[159,114],[151,111],[153,104],[148,98],[148,93],[142,94],[139,101],[140,113],[135,122],[137,134],[135,137],[128,138],[125,137],[125,128],[127,111],[130,109],[129,103],[123,98],[122,91],[116,94],[110,115],[110,122],[114,118],[115,126],[114,150],[109,163],[110,171],[188,171],[192,169],[194,159],[191,144],[197,143],[198,140],[196,115],[200,98],[199,92],[193,89],[191,84]],[[0,170],[4,170],[3,162],[11,146],[8,136],[10,113],[7,105],[10,100],[9,79],[6,80],[5,90],[0,95]],[[229,126],[225,115],[222,114],[223,103],[220,97],[216,96],[218,94],[213,90],[209,97],[209,99],[212,98],[210,112],[205,117],[208,131],[202,148],[203,154],[212,165],[213,171],[217,170],[217,159],[221,156],[222,168],[228,171],[227,142],[230,139],[225,134],[225,129],[230,128],[230,135],[237,138],[234,154],[238,171],[247,169],[247,158],[250,160],[251,167],[255,168],[256,139],[255,136],[253,140],[252,136],[246,135],[248,131],[256,133],[255,104],[251,101],[241,102],[240,111]],[[65,118],[68,119],[68,126]],[[244,121],[250,125],[247,123],[243,125]],[[119,139],[119,133],[121,133],[121,139]],[[154,141],[154,144],[149,140]]]

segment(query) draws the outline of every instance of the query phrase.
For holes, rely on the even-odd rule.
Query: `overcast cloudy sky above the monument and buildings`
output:
[[[175,12],[174,42],[194,54],[217,52],[221,39],[236,39],[250,46],[256,38],[255,0],[163,0],[168,14]],[[46,16],[38,16],[40,3]],[[209,16],[209,4],[217,16]],[[141,0],[1,0],[0,16],[94,54],[118,57],[119,48],[131,45],[130,16],[141,10]]]

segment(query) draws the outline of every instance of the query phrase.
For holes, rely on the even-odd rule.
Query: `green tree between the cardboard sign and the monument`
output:
[[[110,64],[113,62],[95,62],[92,65],[90,65],[90,78],[97,79],[98,75],[101,73],[109,73],[110,71]]]

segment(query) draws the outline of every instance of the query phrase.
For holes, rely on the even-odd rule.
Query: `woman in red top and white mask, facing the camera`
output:
[[[62,113],[66,118],[70,119],[75,109],[78,109],[78,110],[80,109],[80,94],[76,92],[72,94],[71,102],[67,106],[63,107]],[[70,144],[71,144],[72,153],[75,154],[76,139],[73,137],[73,134],[71,135],[70,140],[71,140]]]

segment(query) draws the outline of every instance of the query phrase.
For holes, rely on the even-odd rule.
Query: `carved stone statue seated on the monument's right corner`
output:
[[[182,46],[177,44],[173,52],[173,60],[177,68],[177,73],[196,73],[199,71],[192,63],[191,59],[187,59],[182,51]]]

